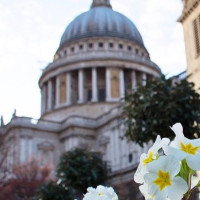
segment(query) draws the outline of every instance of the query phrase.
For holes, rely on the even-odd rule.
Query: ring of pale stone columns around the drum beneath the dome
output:
[[[121,98],[125,95],[125,74],[123,68],[102,68],[105,70],[105,83],[104,83],[104,90],[105,90],[105,101],[106,102],[113,102],[113,101],[119,101]],[[114,78],[116,79],[116,82],[119,86],[118,90],[119,92],[114,97],[112,96],[112,90],[114,90],[116,87],[116,84],[113,84],[112,80],[112,70],[115,69],[117,73],[115,73]],[[98,81],[101,79],[101,77],[98,76],[98,68],[94,67],[91,68],[91,102],[98,102]],[[75,82],[72,81],[72,73],[77,73],[77,79]],[[131,76],[131,85],[132,89],[136,88],[137,86],[137,75],[135,70],[130,70],[130,76]],[[61,83],[61,77],[64,80],[63,83]],[[63,78],[63,76],[65,76]],[[141,81],[144,85],[146,83],[147,74],[141,73]],[[85,90],[84,86],[85,83],[88,80],[85,77],[84,69],[78,69],[66,72],[66,74],[58,75],[55,78],[49,79],[47,82],[43,84],[42,87],[42,114],[48,111],[51,111],[55,108],[62,107],[64,105],[72,105],[72,104],[82,104],[87,102],[85,98]],[[61,84],[63,84],[64,87],[64,101],[61,102]],[[74,91],[72,88],[72,84],[76,85],[77,91]],[[72,100],[72,94],[76,93],[77,100],[74,102]]]

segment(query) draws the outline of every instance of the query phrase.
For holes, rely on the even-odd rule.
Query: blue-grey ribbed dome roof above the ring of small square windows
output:
[[[111,6],[97,5],[76,17],[61,38],[60,47],[73,40],[88,37],[119,37],[132,40],[142,46],[143,40],[133,22],[113,11]]]

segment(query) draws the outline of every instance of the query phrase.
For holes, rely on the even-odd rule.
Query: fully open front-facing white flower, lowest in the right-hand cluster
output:
[[[180,162],[174,156],[161,156],[147,165],[149,173],[145,174],[148,193],[153,200],[181,200],[187,192],[185,180],[176,175],[180,171]]]

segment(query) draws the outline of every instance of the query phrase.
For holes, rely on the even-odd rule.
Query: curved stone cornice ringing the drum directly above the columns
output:
[[[148,58],[144,58],[139,55],[131,55],[131,54],[128,55],[126,53],[120,53],[120,52],[119,53],[114,52],[113,54],[112,53],[105,54],[104,52],[98,52],[98,53],[95,52],[90,57],[86,57],[86,56],[87,56],[87,54],[85,55],[82,53],[82,55],[80,55],[80,56],[74,56],[74,57],[71,57],[70,59],[69,58],[61,59],[57,62],[49,64],[48,67],[43,71],[43,74],[39,79],[40,88],[42,87],[42,84],[46,81],[46,79],[49,79],[49,77],[46,79],[45,79],[45,77],[48,74],[50,74],[50,72],[55,72],[55,73],[57,73],[56,75],[58,75],[58,74],[63,73],[63,71],[62,71],[63,68],[68,69],[68,71],[71,71],[70,66],[73,66],[72,67],[73,70],[82,68],[79,65],[85,66],[85,68],[88,68],[91,65],[94,65],[95,62],[101,62],[101,66],[106,66],[106,67],[109,67],[107,65],[108,62],[114,62],[114,63],[115,62],[124,62],[123,65],[121,65],[121,66],[124,66],[125,62],[129,62],[132,64],[143,65],[144,67],[150,68],[150,69],[156,71],[157,73],[161,72],[160,68],[154,62],[152,62]],[[75,67],[76,65],[78,67]],[[116,64],[114,66],[116,66]],[[98,66],[96,66],[96,67],[98,67]]]

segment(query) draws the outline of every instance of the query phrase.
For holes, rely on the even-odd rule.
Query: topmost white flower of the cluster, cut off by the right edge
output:
[[[183,127],[176,123],[171,128],[176,137],[170,146],[164,146],[166,155],[175,155],[179,160],[186,159],[193,170],[200,170],[200,139],[190,140],[183,135]]]

